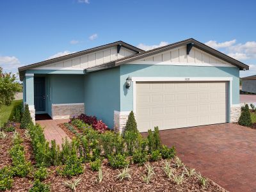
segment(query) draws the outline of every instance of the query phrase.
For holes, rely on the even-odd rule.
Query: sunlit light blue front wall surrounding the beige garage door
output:
[[[127,90],[125,79],[130,77],[233,77],[232,104],[239,104],[239,68],[196,67],[174,65],[121,65],[120,66],[120,111],[133,110],[132,85]]]

